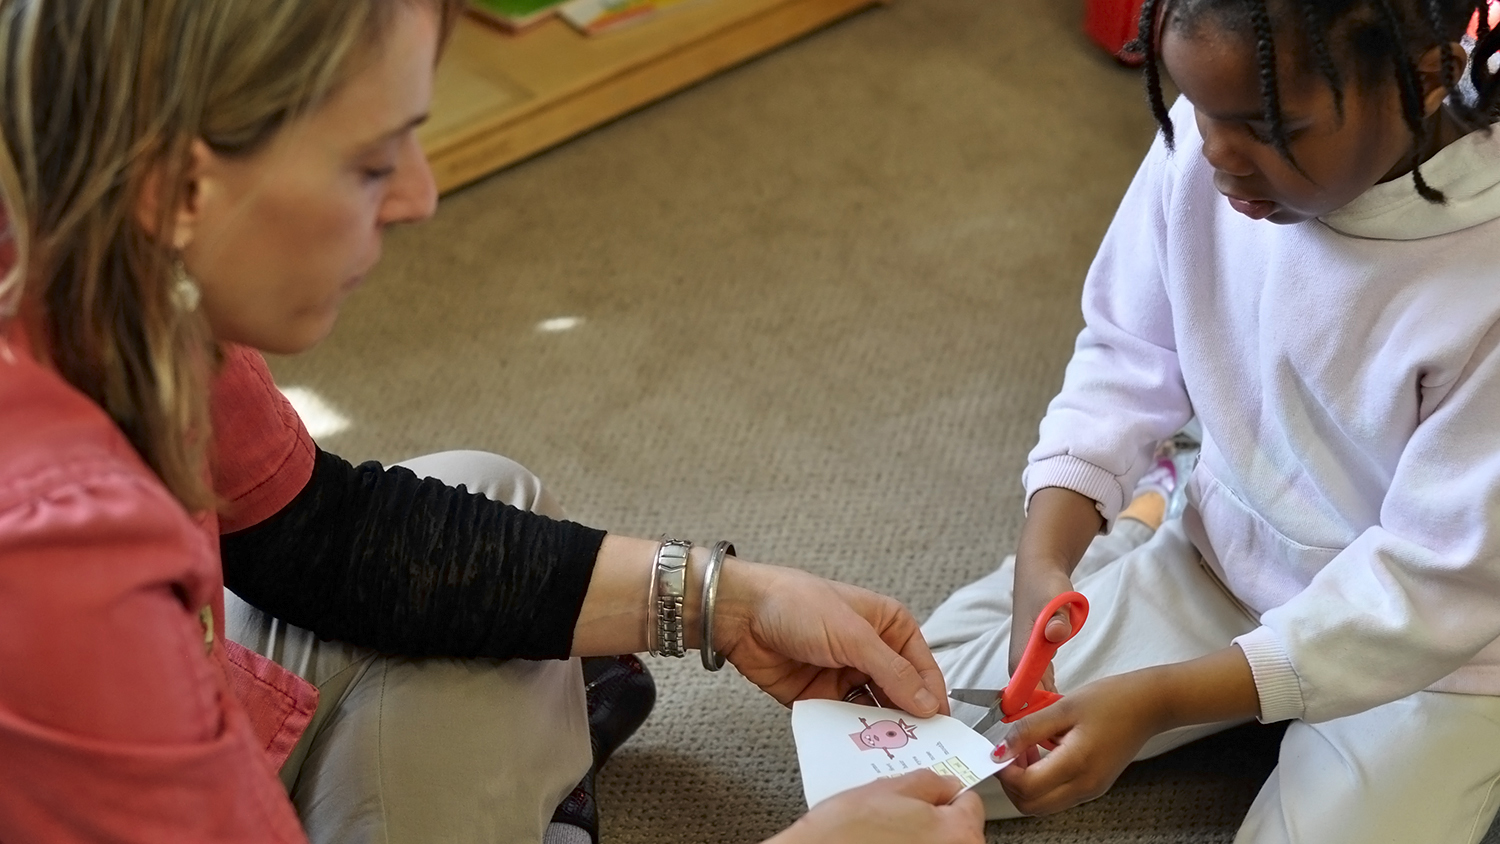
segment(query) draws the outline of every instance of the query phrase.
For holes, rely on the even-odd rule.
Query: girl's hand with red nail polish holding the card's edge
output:
[[[1016,808],[1052,814],[1102,795],[1166,729],[1170,702],[1161,690],[1149,669],[1104,678],[1017,721],[1010,742],[1017,763],[999,772]],[[1038,760],[1047,739],[1058,750]]]

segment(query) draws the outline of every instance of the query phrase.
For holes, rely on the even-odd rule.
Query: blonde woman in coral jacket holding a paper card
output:
[[[550,519],[513,463],[354,468],[276,394],[258,352],[321,340],[434,210],[414,130],[456,13],[0,1],[0,840],[564,841],[594,763],[570,657],[944,706],[891,600],[722,547],[674,582],[681,546]],[[980,841],[956,790],[876,784],[776,841]]]

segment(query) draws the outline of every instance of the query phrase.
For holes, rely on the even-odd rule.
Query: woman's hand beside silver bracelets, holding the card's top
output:
[[[912,613],[894,598],[795,568],[724,562],[714,642],[784,705],[838,700],[873,682],[916,717],[948,714],[942,672]]]

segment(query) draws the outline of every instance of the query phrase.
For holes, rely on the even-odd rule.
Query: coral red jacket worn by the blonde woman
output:
[[[219,531],[314,447],[255,352],[214,388],[220,516],[189,516],[26,343],[0,349],[0,841],[304,841],[276,769],[316,691],[224,639]]]

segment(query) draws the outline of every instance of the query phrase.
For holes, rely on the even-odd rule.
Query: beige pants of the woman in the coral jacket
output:
[[[480,451],[404,463],[561,517],[520,465]],[[578,660],[408,660],[322,642],[225,594],[231,639],[320,690],[282,768],[314,844],[537,844],[592,763]]]

